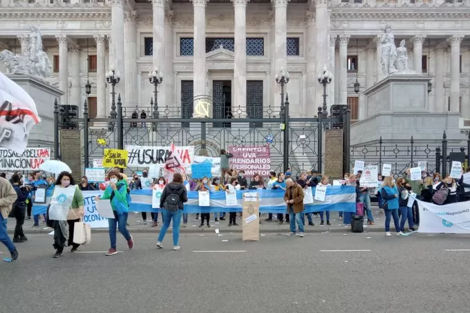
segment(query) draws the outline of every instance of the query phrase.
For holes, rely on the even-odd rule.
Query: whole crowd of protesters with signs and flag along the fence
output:
[[[178,157],[173,146],[171,149],[173,156]],[[369,225],[375,225],[371,195],[375,196],[379,208],[384,210],[386,216],[384,225],[386,236],[391,236],[392,218],[398,236],[403,236],[406,233],[406,222],[408,223],[408,231],[417,229],[420,224],[420,214],[416,200],[432,202],[435,205],[446,205],[466,201],[470,197],[470,168],[465,174],[458,173],[459,178],[453,178],[456,176],[455,173],[444,178],[439,173],[434,173],[431,176],[427,171],[419,168],[418,171],[407,169],[402,177],[394,178],[390,173],[388,176],[377,173],[377,166],[364,167],[364,164],[362,166],[359,164],[355,166],[355,173],[345,173],[342,180],[330,180],[328,176],[322,176],[314,169],[301,171],[297,176],[294,176],[290,169],[281,173],[267,171],[269,174],[264,177],[257,171],[253,171],[252,175],[247,175],[245,170],[231,167],[229,162],[231,158],[234,158],[232,153],[225,150],[220,151],[220,176],[212,175],[210,168],[209,173],[205,175],[198,173],[198,167],[194,167],[193,164],[191,171],[193,178],[185,171],[168,167],[170,158],[167,158],[162,170],[173,169],[171,179],[166,175],[156,175],[161,171],[152,170],[152,173],[149,173],[149,168],[135,171],[129,178],[120,167],[113,167],[106,173],[102,169],[105,174],[100,182],[95,179],[90,182],[87,176],[76,181],[72,173],[68,171],[62,171],[49,177],[45,176],[45,171],[33,171],[24,176],[19,171],[15,171],[9,180],[6,179],[6,173],[0,173],[1,242],[8,247],[12,260],[15,260],[18,257],[18,252],[14,244],[28,240],[23,233],[23,222],[25,219],[33,218],[32,227],[39,227],[39,223],[42,222],[54,230],[54,258],[62,256],[65,247],[71,247],[71,252],[76,252],[79,249],[79,242],[86,242],[86,236],[90,236],[89,225],[87,228],[83,222],[85,215],[84,193],[90,191],[100,192],[100,196],[94,196],[93,200],[97,203],[97,209],[100,207],[98,211],[102,216],[106,216],[102,204],[108,204],[109,215],[106,216],[106,219],[110,247],[106,256],[118,253],[116,243],[118,231],[126,240],[129,249],[133,248],[133,237],[126,229],[129,212],[133,211],[135,214],[142,214],[142,220],[145,224],[151,222],[150,227],[158,226],[158,219],[161,216],[162,227],[156,242],[158,248],[163,247],[164,235],[173,221],[173,249],[180,249],[180,224],[182,222],[182,227],[187,227],[189,214],[195,214],[195,220],[200,221],[199,227],[211,227],[211,221],[222,222],[225,220],[228,220],[229,227],[238,227],[238,223],[243,221],[242,210],[239,207],[230,209],[228,203],[232,201],[236,206],[238,203],[237,194],[244,191],[257,193],[275,191],[276,194],[279,194],[282,199],[282,207],[274,205],[276,209],[273,207],[271,210],[267,207],[263,210],[263,214],[267,214],[265,221],[277,221],[279,225],[284,222],[288,223],[290,225],[289,235],[299,237],[304,236],[306,225],[315,226],[313,216],[319,218],[321,226],[331,225],[332,214],[337,214],[339,220],[346,219],[347,213],[351,214],[351,211],[341,211],[335,207],[324,211],[306,209],[308,204],[312,204],[314,201],[320,201],[317,204],[322,201],[326,203],[330,195],[327,192],[327,187],[328,190],[346,188],[351,191],[353,216],[364,218]],[[177,161],[178,164],[181,163],[180,160]],[[200,168],[203,167],[205,165]],[[371,171],[373,168],[375,171]],[[144,194],[140,193],[144,189],[149,192],[149,195],[152,195],[152,198],[158,199],[155,202],[152,200],[153,210],[135,209],[138,207],[138,203],[135,202],[139,202],[137,199]],[[323,196],[319,193],[323,193]],[[269,194],[266,194],[269,198]],[[227,201],[227,207],[225,208],[224,204],[222,205],[223,209],[213,212],[205,209],[210,206],[209,203],[212,203],[211,201],[216,195],[223,195],[220,199]],[[307,200],[308,198],[311,199]],[[195,204],[190,205],[189,202]],[[42,214],[34,213],[35,207],[40,206],[41,203],[48,204],[46,211]],[[149,211],[150,216],[147,215]],[[8,237],[6,230],[8,216],[16,220],[12,240]],[[255,216],[250,222],[256,218]],[[261,213],[259,218],[261,218]],[[261,224],[261,219],[256,222]],[[79,240],[74,236],[79,236]]]

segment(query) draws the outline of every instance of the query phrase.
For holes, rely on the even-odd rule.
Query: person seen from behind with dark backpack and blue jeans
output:
[[[187,202],[187,200],[187,189],[183,184],[182,176],[180,173],[176,173],[173,175],[173,182],[164,187],[160,197],[160,207],[163,208],[163,227],[160,229],[160,234],[158,234],[158,249],[163,247],[163,238],[167,234],[171,220],[173,220],[173,250],[180,249],[180,222],[182,210],[184,209],[183,203]]]

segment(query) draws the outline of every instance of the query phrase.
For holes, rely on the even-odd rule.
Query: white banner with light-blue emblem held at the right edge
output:
[[[434,205],[417,201],[420,208],[419,233],[470,234],[469,202]]]

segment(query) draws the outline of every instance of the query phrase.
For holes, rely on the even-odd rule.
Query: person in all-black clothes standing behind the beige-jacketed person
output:
[[[30,187],[21,186],[23,182],[21,177],[18,174],[13,174],[11,178],[13,189],[17,193],[17,200],[13,203],[12,214],[17,220],[17,225],[15,226],[15,233],[13,234],[13,243],[23,243],[28,241],[28,238],[24,236],[23,224],[26,213],[26,200],[28,200],[28,195],[31,191]]]

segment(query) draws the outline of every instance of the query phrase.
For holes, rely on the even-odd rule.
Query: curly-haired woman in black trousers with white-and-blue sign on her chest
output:
[[[79,245],[73,242],[73,231],[75,222],[79,222],[84,215],[82,191],[75,185],[71,173],[59,173],[48,209],[48,219],[53,220],[54,258],[62,256],[66,242],[68,247],[72,246],[71,252],[77,251]]]

